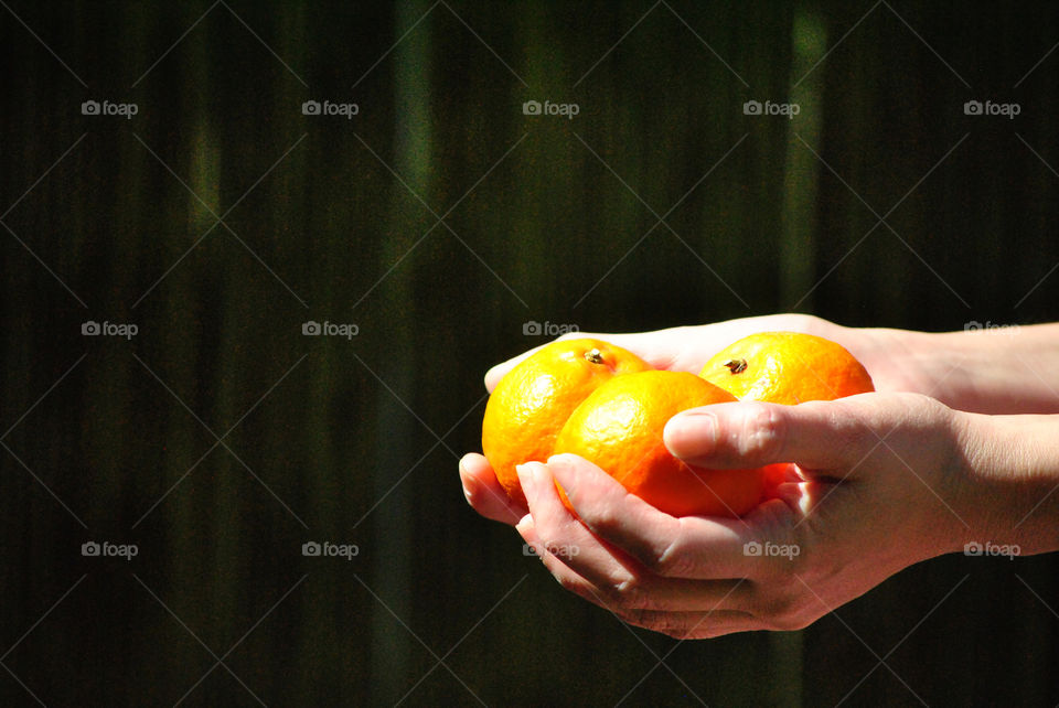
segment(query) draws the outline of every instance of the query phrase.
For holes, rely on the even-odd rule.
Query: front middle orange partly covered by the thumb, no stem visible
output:
[[[673,516],[739,516],[761,501],[762,470],[694,468],[670,454],[662,442],[666,421],[680,411],[734,400],[694,374],[616,376],[574,410],[555,440],[555,453],[585,458]]]

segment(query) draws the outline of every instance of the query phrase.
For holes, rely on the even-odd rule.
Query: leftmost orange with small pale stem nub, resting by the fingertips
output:
[[[482,452],[512,500],[526,504],[515,465],[545,462],[574,409],[617,374],[651,366],[600,340],[553,342],[520,362],[496,384],[482,421]]]

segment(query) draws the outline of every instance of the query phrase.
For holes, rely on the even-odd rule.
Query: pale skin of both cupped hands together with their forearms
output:
[[[1059,550],[1059,324],[933,334],[779,314],[576,336],[697,373],[724,346],[770,330],[838,342],[877,393],[800,406],[718,404],[672,418],[664,441],[689,464],[793,463],[777,498],[742,518],[675,518],[569,454],[520,468],[528,508],[507,498],[485,458],[467,454],[468,502],[515,526],[564,588],[682,639],[804,627],[969,543]],[[492,368],[486,388],[520,358]],[[750,543],[773,555],[748,555]]]

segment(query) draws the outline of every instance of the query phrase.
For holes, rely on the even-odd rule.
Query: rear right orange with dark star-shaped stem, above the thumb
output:
[[[739,400],[795,405],[875,390],[860,362],[841,345],[799,332],[745,336],[706,362],[699,376]]]

